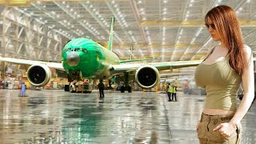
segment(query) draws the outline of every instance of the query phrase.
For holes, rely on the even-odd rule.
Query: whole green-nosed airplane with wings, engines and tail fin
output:
[[[131,87],[128,84],[129,74],[134,73],[134,71],[136,71],[134,77],[138,86],[143,89],[150,89],[156,86],[160,80],[158,70],[197,66],[202,62],[197,60],[122,64],[126,61],[121,61],[111,49],[113,27],[114,17],[111,20],[108,49],[89,38],[74,38],[62,49],[62,63],[17,58],[0,58],[0,61],[31,65],[27,70],[27,78],[34,86],[45,86],[50,81],[50,68],[65,70],[71,80],[79,80],[81,78],[109,79],[114,75],[123,73],[128,92],[131,92]]]

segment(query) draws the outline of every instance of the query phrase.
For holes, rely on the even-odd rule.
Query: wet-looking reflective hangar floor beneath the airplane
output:
[[[0,143],[198,143],[204,96],[155,92],[70,94],[0,90]],[[242,144],[256,143],[256,106],[242,120]]]

